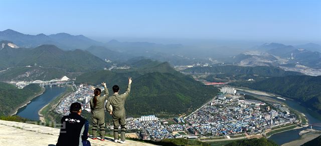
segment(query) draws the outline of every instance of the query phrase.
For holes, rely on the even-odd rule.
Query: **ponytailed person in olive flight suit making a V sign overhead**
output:
[[[104,86],[104,94],[101,95],[101,90],[94,90],[94,97],[90,99],[91,120],[92,120],[92,139],[97,139],[97,128],[100,128],[100,140],[105,140],[105,111],[104,104],[109,95],[106,83],[101,83]]]

